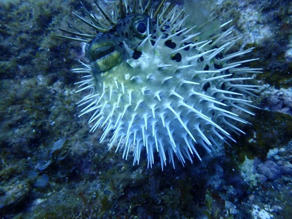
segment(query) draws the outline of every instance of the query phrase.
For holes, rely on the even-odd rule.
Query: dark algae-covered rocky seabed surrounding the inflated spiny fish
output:
[[[262,109],[232,148],[162,172],[122,160],[78,118],[70,69],[86,60],[51,34],[80,2],[0,1],[0,218],[291,218],[292,2],[202,2],[256,47]]]

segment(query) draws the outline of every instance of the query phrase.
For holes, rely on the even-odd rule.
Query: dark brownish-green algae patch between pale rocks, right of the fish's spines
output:
[[[265,159],[269,149],[280,148],[292,139],[292,116],[258,110],[252,125],[245,131],[247,134],[239,137],[238,146],[232,149],[235,156],[240,162],[245,160],[245,155],[249,159]]]

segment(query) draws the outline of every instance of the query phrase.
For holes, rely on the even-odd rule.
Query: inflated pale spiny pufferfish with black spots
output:
[[[173,168],[175,157],[182,165],[201,161],[198,147],[211,153],[236,142],[231,133],[245,134],[237,126],[248,122],[238,114],[254,115],[247,108],[256,108],[249,96],[258,87],[245,81],[261,68],[241,66],[257,58],[239,60],[253,48],[233,50],[244,35],[234,36],[230,22],[204,38],[204,25],[186,27],[185,9],[165,0],[157,9],[120,0],[108,14],[95,4],[104,22],[83,4],[87,18],[74,14],[96,33],[68,23],[76,32],[59,29],[76,37],[58,36],[86,43],[89,62],[73,69],[87,74],[76,83],[87,91],[79,116],[90,114],[91,132],[103,129],[100,142],[109,140],[125,159],[133,154],[133,165],[141,153],[148,167],[159,157],[163,170],[167,157]]]

